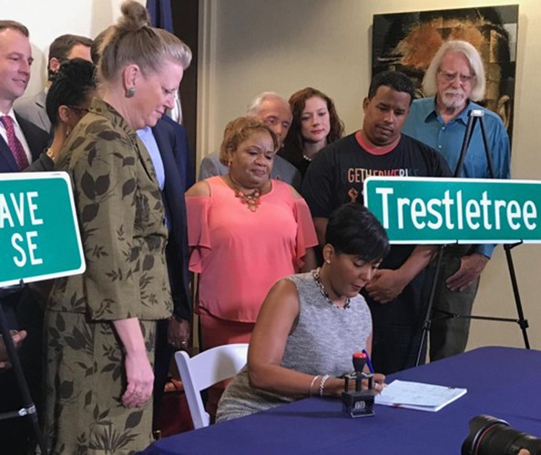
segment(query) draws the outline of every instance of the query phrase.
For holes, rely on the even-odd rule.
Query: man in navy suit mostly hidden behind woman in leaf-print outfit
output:
[[[163,164],[165,179],[162,195],[169,231],[166,257],[174,305],[173,316],[168,320],[158,321],[156,335],[153,427],[158,430],[159,405],[171,356],[176,349],[188,347],[190,336],[192,308],[189,297],[189,250],[184,192],[193,184],[194,176],[190,176],[189,173],[188,137],[185,129],[178,123],[164,116],[152,128],[152,136],[148,134],[139,136],[158,169],[159,165],[156,162],[158,158],[153,156],[152,151],[153,136]]]

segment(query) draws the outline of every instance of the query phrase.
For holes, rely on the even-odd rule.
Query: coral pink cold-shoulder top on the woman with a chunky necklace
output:
[[[255,322],[271,286],[297,273],[306,248],[317,245],[310,209],[279,180],[254,212],[221,177],[206,181],[209,197],[186,197],[199,308],[219,319]]]

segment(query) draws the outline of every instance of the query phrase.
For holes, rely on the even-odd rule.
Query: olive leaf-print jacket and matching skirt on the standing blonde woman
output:
[[[47,304],[47,442],[55,454],[135,453],[151,442],[152,403],[120,401],[124,351],[112,321],[139,319],[152,363],[155,321],[172,311],[155,170],[135,131],[98,99],[56,167],[73,184],[87,270],[57,279]]]

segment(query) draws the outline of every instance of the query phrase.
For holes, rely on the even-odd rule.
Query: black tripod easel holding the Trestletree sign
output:
[[[490,178],[495,178],[494,174],[494,165],[492,161],[492,156],[490,154],[490,147],[488,145],[488,140],[486,138],[486,131],[485,131],[485,122],[484,122],[484,115],[485,113],[482,110],[475,109],[470,112],[468,123],[466,125],[466,130],[464,133],[464,140],[462,143],[462,147],[460,150],[460,157],[458,160],[458,163],[456,165],[456,168],[454,169],[454,177],[459,177],[462,168],[464,167],[464,159],[466,157],[467,149],[470,145],[470,142],[472,140],[472,136],[474,135],[475,131],[475,125],[479,123],[479,126],[481,128],[481,134],[483,136],[483,144],[485,146],[485,157],[486,162],[488,164],[488,172],[490,175]],[[510,319],[510,318],[495,318],[495,317],[487,317],[487,316],[472,316],[472,315],[459,315],[455,313],[450,313],[445,311],[444,316],[441,316],[439,318],[444,319],[451,319],[451,318],[462,318],[462,319],[483,319],[483,320],[496,320],[496,321],[504,321],[504,322],[515,322],[518,324],[520,329],[522,330],[522,335],[524,338],[526,349],[530,349],[530,343],[528,340],[528,336],[526,333],[526,329],[528,327],[528,321],[524,318],[524,311],[522,308],[522,302],[520,299],[520,294],[518,291],[518,282],[516,280],[515,275],[515,266],[513,263],[513,257],[511,255],[511,249],[515,248],[518,245],[521,245],[521,242],[515,243],[515,244],[505,244],[504,250],[505,250],[505,258],[507,261],[507,267],[509,268],[509,277],[511,278],[511,286],[513,288],[513,295],[515,298],[515,306],[516,306],[516,312],[518,315],[518,319]],[[430,331],[432,321],[434,320],[432,317],[432,310],[434,306],[434,297],[435,292],[437,288],[438,278],[441,273],[442,268],[442,262],[443,262],[443,256],[444,256],[444,248],[446,245],[443,245],[438,250],[438,256],[437,256],[437,262],[435,267],[435,274],[434,274],[434,281],[432,283],[432,287],[430,289],[430,297],[428,300],[428,307],[426,308],[426,315],[424,317],[424,323],[423,323],[423,334],[421,338],[421,344],[419,347],[419,351],[417,352],[417,360],[415,362],[415,365],[419,365],[421,363],[421,357],[424,352],[424,344],[426,343],[428,332]],[[443,312],[443,311],[442,311]]]

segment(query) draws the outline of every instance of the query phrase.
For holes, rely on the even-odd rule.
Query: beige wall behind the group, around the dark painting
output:
[[[207,0],[201,18],[205,45],[200,68],[199,155],[216,150],[225,124],[264,90],[284,96],[315,86],[332,96],[346,131],[361,126],[361,101],[371,73],[374,14],[469,6],[509,0]],[[539,72],[541,6],[520,0],[515,90],[513,176],[541,177]],[[532,346],[541,349],[541,247],[514,249],[515,268]],[[514,318],[515,303],[501,248],[486,268],[475,313]],[[469,349],[524,346],[518,326],[474,321]]]

